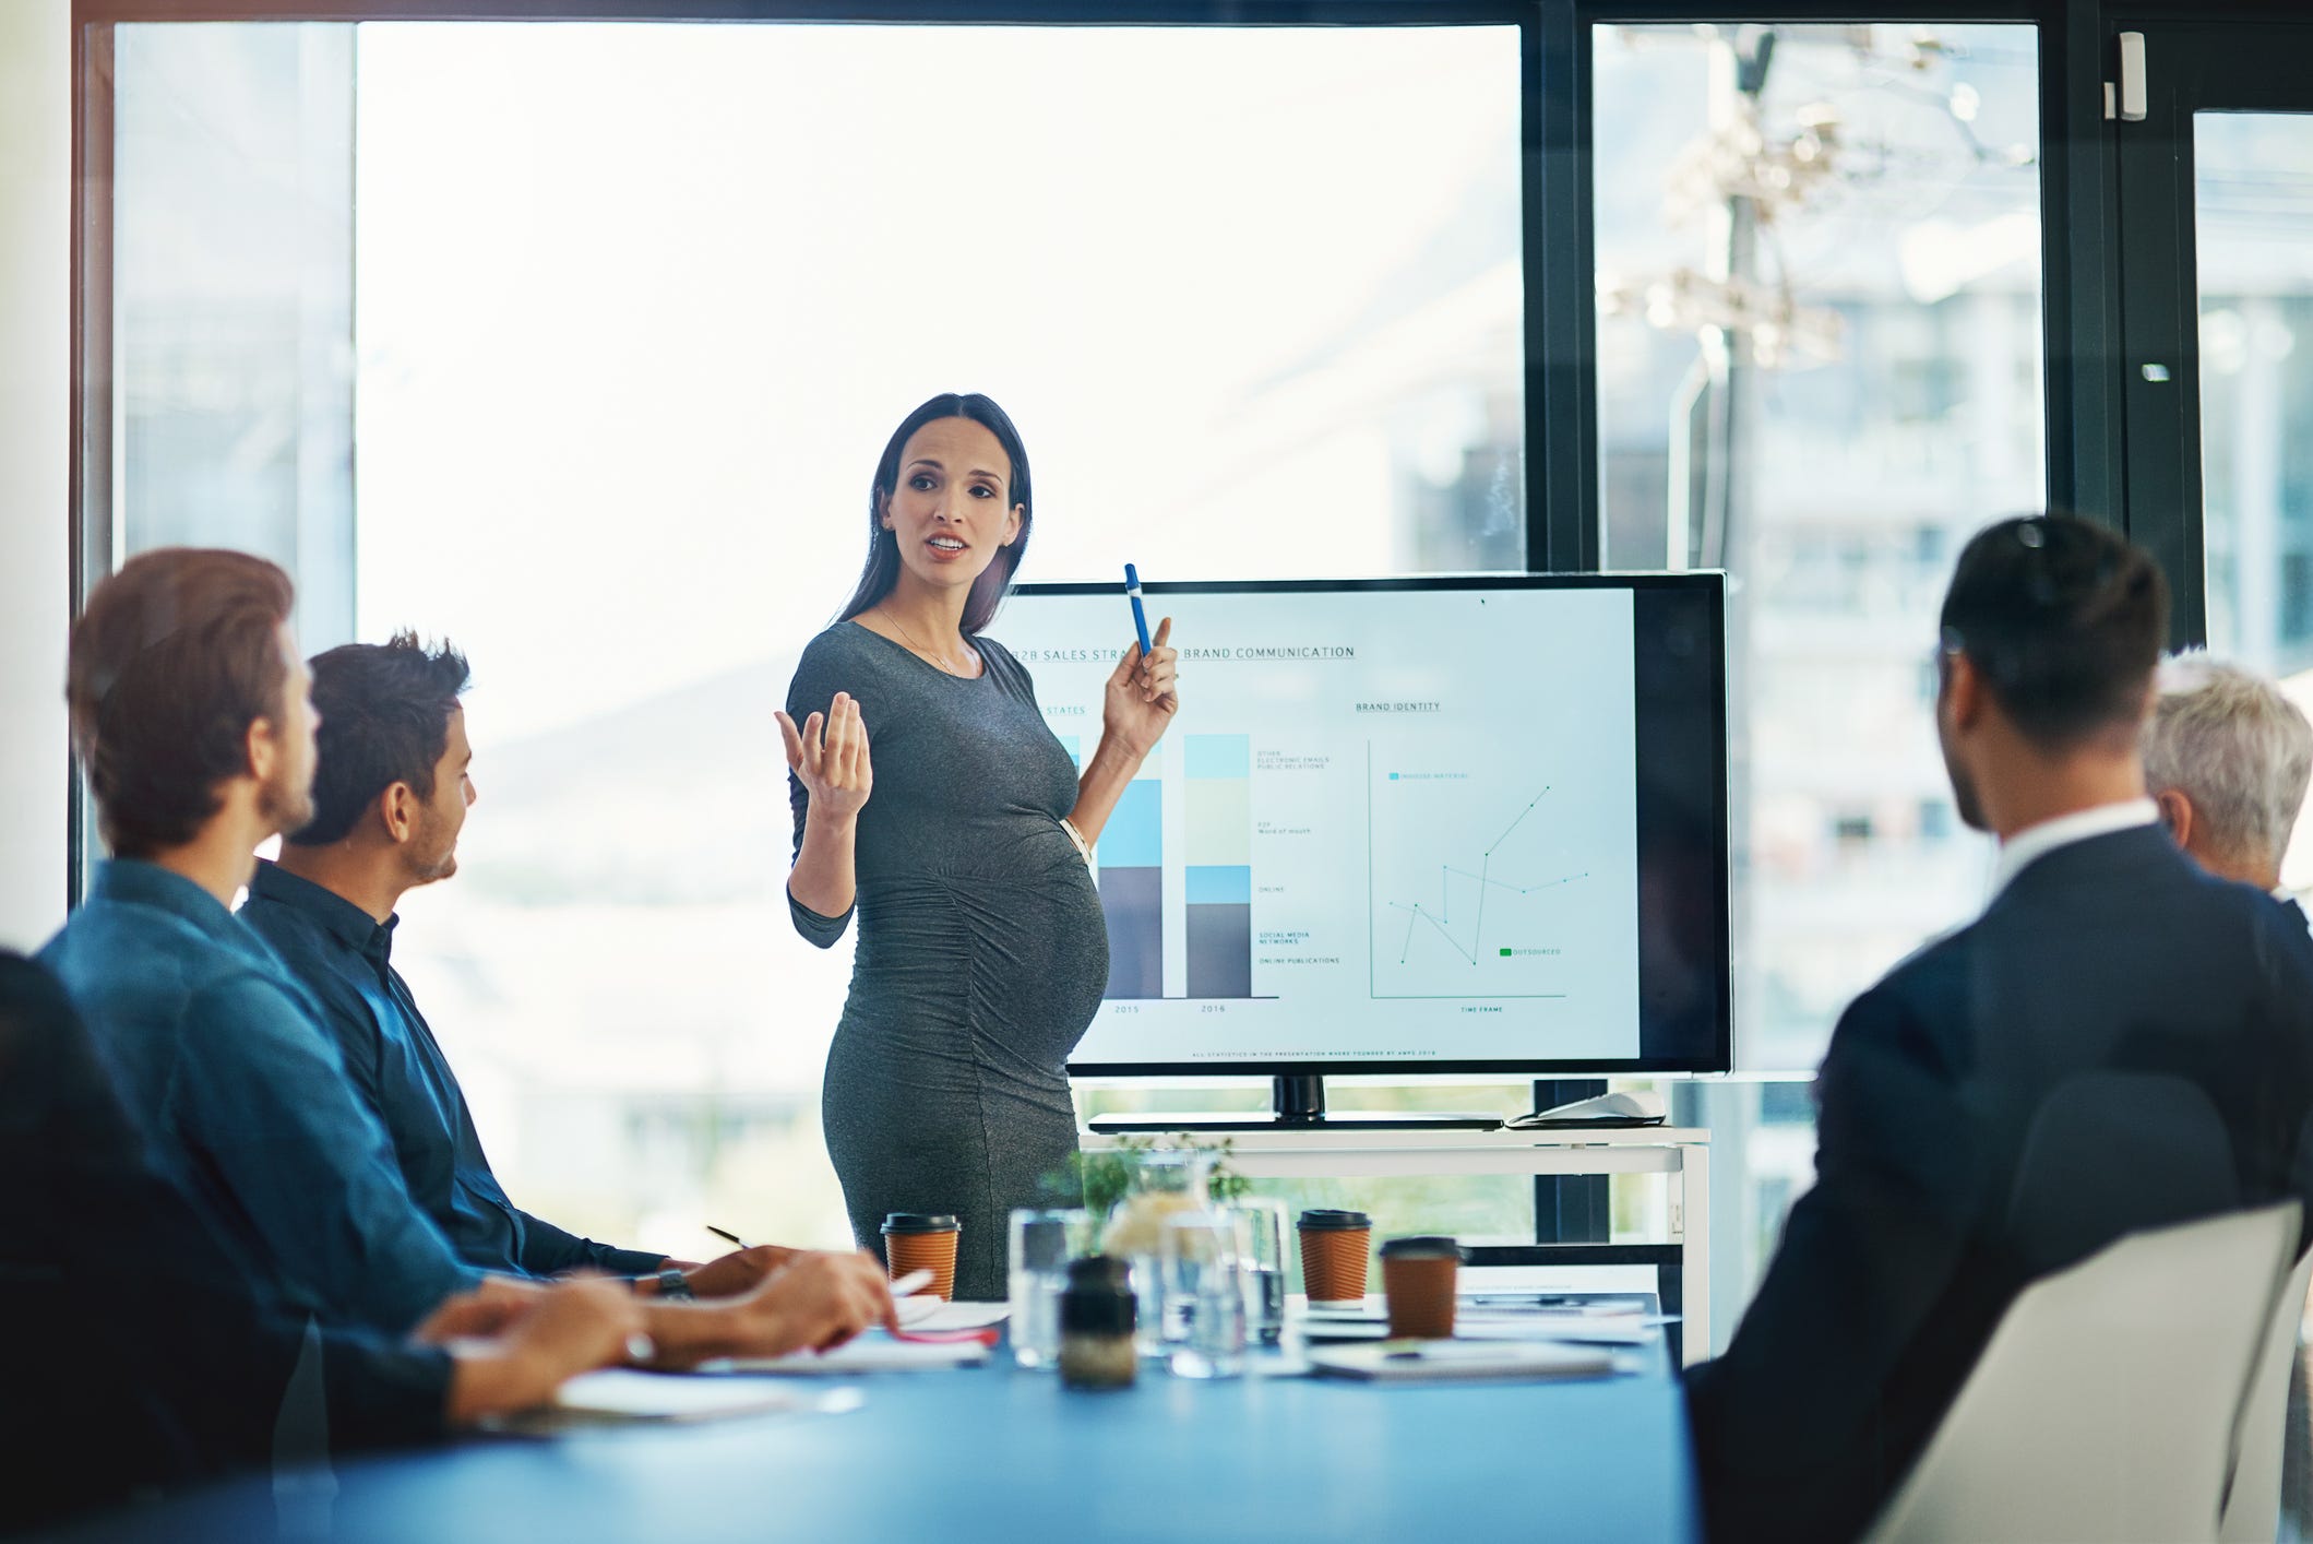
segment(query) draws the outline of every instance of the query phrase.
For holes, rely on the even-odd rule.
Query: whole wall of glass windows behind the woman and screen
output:
[[[111,28],[83,535],[278,556],[312,646],[407,625],[472,653],[481,808],[398,958],[509,1188],[576,1227],[842,1238],[816,1090],[849,956],[786,924],[770,708],[856,574],[884,435],[948,389],[1036,456],[1032,579],[1520,569],[1529,530],[1589,521],[1603,567],[1725,567],[1737,1060],[1804,1079],[1989,875],[1927,648],[1966,535],[2047,498],[2061,72],[2033,25],[1598,14]],[[2059,106],[2093,188],[2098,106]],[[2232,394],[2209,616],[2294,667],[2304,275],[2276,252],[2301,188],[2276,167],[2301,157],[2218,130],[2281,134],[2202,150],[2227,231],[2202,377]],[[2068,236],[2063,282],[2100,236]],[[1529,356],[1566,340],[1571,271],[1591,354]],[[2082,394],[2109,340],[2070,343]],[[2075,419],[2059,488],[2116,486]],[[1573,465],[1596,507],[1545,519],[1529,491],[1580,502]],[[1527,1090],[1337,1104],[1369,1100]],[[1719,1132],[1723,1333],[1809,1178],[1809,1102],[1732,1081],[1679,1113]],[[1374,1204],[1515,1234],[1527,1194]],[[1647,1206],[1617,1192],[1617,1227]]]

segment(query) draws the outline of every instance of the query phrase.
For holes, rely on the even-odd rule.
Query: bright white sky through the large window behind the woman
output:
[[[359,634],[497,736],[793,650],[934,391],[1027,438],[1025,579],[1388,569],[1342,354],[1515,220],[1517,102],[1513,28],[363,25]]]

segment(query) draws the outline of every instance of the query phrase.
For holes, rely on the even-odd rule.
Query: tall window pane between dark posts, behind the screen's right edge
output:
[[[1982,898],[1927,669],[2045,500],[2038,49],[2017,25],[1598,28],[1608,567],[1725,567],[1737,1060]]]

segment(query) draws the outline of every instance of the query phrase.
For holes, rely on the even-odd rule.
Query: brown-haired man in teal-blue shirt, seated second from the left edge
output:
[[[42,951],[132,1118],[282,1308],[405,1333],[481,1271],[409,1199],[312,998],[227,910],[257,843],[312,817],[312,704],[289,576],[224,551],[132,558],[72,630],[65,697],[113,859]],[[865,1255],[733,1264],[712,1306],[652,1306],[664,1361],[891,1322]]]

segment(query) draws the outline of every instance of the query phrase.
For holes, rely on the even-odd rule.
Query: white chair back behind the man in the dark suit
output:
[[[1869,1537],[2216,1539],[2297,1222],[2281,1201],[2133,1234],[2026,1287]]]

